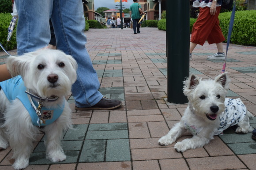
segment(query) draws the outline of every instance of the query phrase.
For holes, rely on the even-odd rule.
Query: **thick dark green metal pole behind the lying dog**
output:
[[[189,76],[189,0],[166,0],[167,101],[183,104]]]

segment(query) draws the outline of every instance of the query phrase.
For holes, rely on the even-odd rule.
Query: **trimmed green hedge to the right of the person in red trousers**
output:
[[[227,39],[231,12],[219,14],[220,27]],[[256,46],[256,11],[236,11],[230,43]]]

